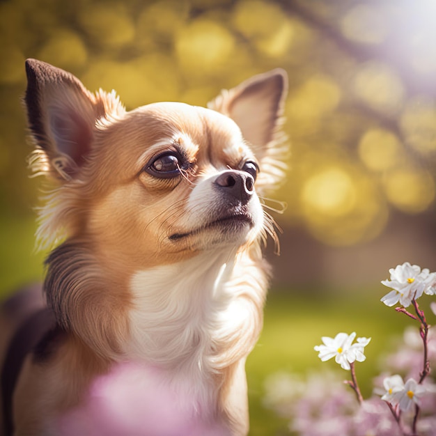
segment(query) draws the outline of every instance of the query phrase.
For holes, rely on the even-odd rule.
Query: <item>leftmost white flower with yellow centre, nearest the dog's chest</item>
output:
[[[323,336],[322,342],[324,345],[316,345],[315,351],[318,351],[318,357],[322,361],[327,361],[334,357],[337,364],[340,364],[343,369],[349,370],[350,364],[355,360],[364,361],[364,347],[368,345],[371,338],[357,338],[357,343],[352,343],[355,340],[356,333],[348,335],[346,333],[338,333],[334,338]]]

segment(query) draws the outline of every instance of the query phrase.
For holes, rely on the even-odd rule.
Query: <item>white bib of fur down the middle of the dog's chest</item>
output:
[[[217,410],[220,336],[234,328],[225,319],[235,304],[226,287],[234,257],[228,251],[197,256],[138,272],[131,281],[127,359],[165,371],[173,398],[205,416]]]

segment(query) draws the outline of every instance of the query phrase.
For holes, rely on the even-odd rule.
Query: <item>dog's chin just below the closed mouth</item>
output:
[[[178,231],[169,236],[173,244],[189,249],[208,249],[221,246],[239,247],[249,240],[256,223],[251,215],[229,215],[212,220],[203,226]]]

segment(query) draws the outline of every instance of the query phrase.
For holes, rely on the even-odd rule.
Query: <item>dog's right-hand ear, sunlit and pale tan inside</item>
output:
[[[288,75],[277,68],[251,77],[242,84],[221,94],[208,104],[232,118],[242,131],[256,158],[260,174],[256,186],[260,190],[272,189],[283,179],[288,146],[281,131],[283,111],[288,94]]]

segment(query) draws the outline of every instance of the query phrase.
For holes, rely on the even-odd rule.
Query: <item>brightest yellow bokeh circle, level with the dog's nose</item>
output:
[[[316,213],[341,217],[355,205],[355,185],[343,169],[332,167],[306,181],[302,201]]]

